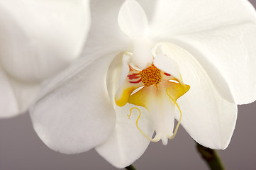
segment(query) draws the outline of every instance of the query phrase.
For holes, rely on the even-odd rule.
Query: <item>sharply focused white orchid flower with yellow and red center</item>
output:
[[[31,110],[48,147],[95,147],[123,168],[150,140],[166,145],[174,118],[201,145],[228,146],[237,104],[256,98],[248,1],[98,0],[91,17],[84,57],[49,81]]]

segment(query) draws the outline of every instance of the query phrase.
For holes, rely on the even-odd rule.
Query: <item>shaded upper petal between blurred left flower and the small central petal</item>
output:
[[[84,55],[93,56],[90,60],[96,60],[91,55],[94,53],[130,51],[130,40],[118,26],[118,12],[122,4],[123,1],[116,0],[90,1],[91,29],[84,46]]]

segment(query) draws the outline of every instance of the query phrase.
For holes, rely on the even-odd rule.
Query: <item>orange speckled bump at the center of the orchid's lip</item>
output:
[[[161,81],[161,70],[152,64],[150,67],[140,71],[140,77],[145,86],[158,85]]]

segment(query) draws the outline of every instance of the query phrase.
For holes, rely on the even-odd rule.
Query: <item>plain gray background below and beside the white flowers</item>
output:
[[[225,0],[224,0],[225,1]],[[235,1],[235,0],[234,0]],[[256,0],[251,0],[256,6]],[[256,42],[255,42],[256,43]],[[255,56],[256,57],[256,56]],[[255,66],[256,67],[256,66]],[[238,106],[238,121],[228,148],[220,151],[227,169],[256,170],[256,102]],[[163,146],[150,143],[138,161],[141,169],[207,169],[196,152],[195,142],[183,128]],[[28,114],[0,120],[0,170],[116,169],[94,149],[82,154],[60,154],[40,141]]]

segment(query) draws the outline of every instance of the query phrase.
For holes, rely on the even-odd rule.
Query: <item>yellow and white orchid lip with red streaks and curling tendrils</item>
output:
[[[152,139],[140,130],[138,126],[140,115],[136,122],[138,130],[153,142],[162,140],[163,145],[167,145],[168,139],[172,139],[177,132],[181,119],[177,124],[176,130],[173,132],[175,106],[179,108],[176,101],[187,93],[190,88],[189,85],[183,83],[179,70],[174,72],[176,76],[174,77],[170,72],[164,72],[155,66],[155,63],[161,66],[161,62],[169,62],[169,65],[174,66],[174,61],[165,57],[164,54],[160,53],[160,55],[155,57],[154,62],[150,66],[140,71],[129,64],[130,60],[127,60],[127,56],[124,57],[123,69],[129,69],[129,71],[126,74],[126,79],[121,79],[123,83],[121,83],[115,96],[117,106],[122,107],[126,103],[130,103],[135,106],[143,106],[148,110],[153,120],[156,136]],[[141,89],[138,90],[138,88]],[[136,89],[138,91],[134,92]],[[130,110],[130,115],[135,108]],[[136,109],[140,112],[138,108]],[[129,118],[130,115],[128,114]]]

